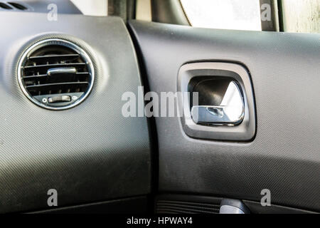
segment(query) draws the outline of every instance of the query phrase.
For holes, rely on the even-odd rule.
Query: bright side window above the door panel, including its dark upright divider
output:
[[[319,33],[319,0],[180,0],[191,26]]]

